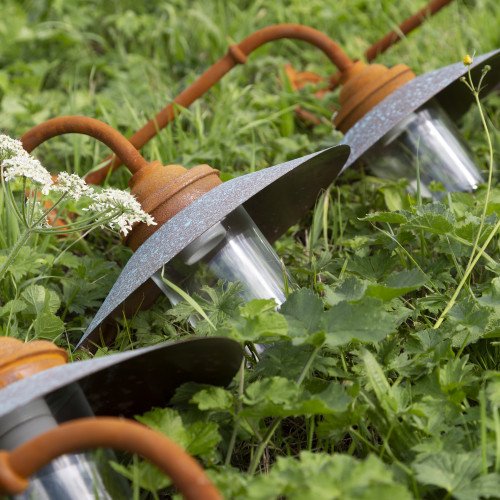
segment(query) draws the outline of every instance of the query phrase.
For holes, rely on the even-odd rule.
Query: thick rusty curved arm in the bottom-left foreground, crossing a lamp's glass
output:
[[[222,498],[198,462],[179,445],[137,422],[110,417],[67,422],[10,452],[0,451],[0,493],[21,493],[31,475],[60,455],[101,447],[146,458],[172,478],[186,499]]]

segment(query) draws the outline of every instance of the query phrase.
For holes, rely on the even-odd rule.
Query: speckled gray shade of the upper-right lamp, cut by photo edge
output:
[[[470,68],[475,82],[486,64],[491,70],[484,79],[482,96],[491,92],[500,81],[500,50],[474,58]],[[452,64],[418,76],[387,96],[344,136],[342,143],[351,147],[344,169],[356,163],[395,125],[432,98],[436,98],[452,118],[459,118],[474,100],[470,90],[459,80],[466,74],[463,63]]]

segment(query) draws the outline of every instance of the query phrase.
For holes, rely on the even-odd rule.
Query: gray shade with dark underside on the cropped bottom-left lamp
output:
[[[74,384],[96,415],[124,415],[165,406],[183,383],[227,385],[243,359],[241,346],[228,338],[190,338],[77,361],[50,368],[0,390],[0,418],[39,397],[66,400]],[[79,389],[78,389],[79,391]],[[74,390],[72,392],[75,392]],[[59,403],[58,406],[61,406]],[[65,418],[78,418],[71,406]]]

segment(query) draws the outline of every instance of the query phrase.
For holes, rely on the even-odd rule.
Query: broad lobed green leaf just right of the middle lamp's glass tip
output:
[[[326,343],[331,346],[360,342],[380,342],[395,329],[394,321],[382,302],[366,297],[350,304],[341,302],[323,316]]]

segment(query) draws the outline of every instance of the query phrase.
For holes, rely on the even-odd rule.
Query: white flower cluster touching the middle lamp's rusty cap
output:
[[[126,236],[137,222],[156,225],[153,217],[146,213],[133,195],[119,189],[108,188],[92,196],[93,203],[87,208],[94,212],[117,214],[107,224]]]

